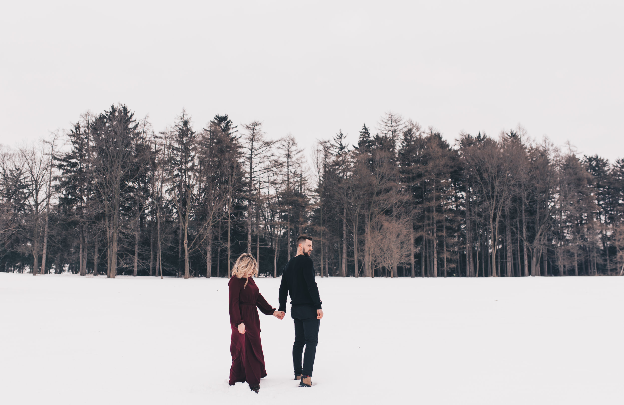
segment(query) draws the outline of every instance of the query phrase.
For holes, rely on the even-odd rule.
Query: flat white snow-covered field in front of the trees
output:
[[[0,273],[0,403],[624,403],[624,277],[317,281],[313,388],[290,314],[260,315],[255,394],[228,386],[224,278]]]

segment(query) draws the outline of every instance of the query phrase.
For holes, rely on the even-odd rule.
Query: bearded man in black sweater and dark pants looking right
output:
[[[286,264],[281,276],[280,309],[286,312],[286,296],[290,294],[290,316],[295,321],[295,343],[293,344],[293,366],[295,379],[300,379],[300,387],[312,386],[312,369],[316,344],[318,344],[318,328],[323,318],[321,298],[314,281],[314,263],[310,258],[312,238],[301,235],[297,238],[297,255]],[[303,346],[306,352],[301,354]]]

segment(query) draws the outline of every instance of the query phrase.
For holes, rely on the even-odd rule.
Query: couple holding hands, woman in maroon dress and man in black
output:
[[[280,284],[280,309],[271,308],[260,294],[253,276],[258,275],[258,263],[249,253],[243,253],[232,270],[228,283],[230,290],[230,324],[232,326],[232,368],[230,385],[248,383],[251,391],[260,391],[260,379],[266,377],[265,356],[260,341],[260,318],[256,306],[265,315],[283,319],[286,313],[286,296],[290,293],[291,316],[295,321],[293,366],[300,387],[312,386],[312,368],[318,343],[318,328],[323,318],[321,298],[314,281],[314,265],[310,258],[312,238],[297,238],[297,255],[286,264]],[[303,346],[306,353],[301,355]]]

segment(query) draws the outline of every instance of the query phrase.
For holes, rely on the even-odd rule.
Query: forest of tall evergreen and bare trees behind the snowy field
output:
[[[126,105],[0,146],[0,271],[278,277],[313,238],[318,276],[624,274],[624,159],[522,127],[459,134],[388,112],[302,150],[227,114],[155,131]]]

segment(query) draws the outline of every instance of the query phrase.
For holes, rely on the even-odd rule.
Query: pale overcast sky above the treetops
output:
[[[311,147],[386,111],[459,132],[624,157],[623,1],[12,1],[0,9],[0,143],[124,103],[184,107]]]

